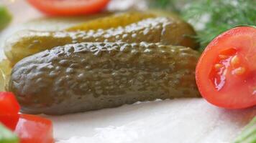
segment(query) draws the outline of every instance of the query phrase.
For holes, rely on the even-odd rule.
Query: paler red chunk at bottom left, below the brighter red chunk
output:
[[[18,135],[20,143],[54,142],[52,122],[48,119],[29,114],[0,115],[0,122]]]

